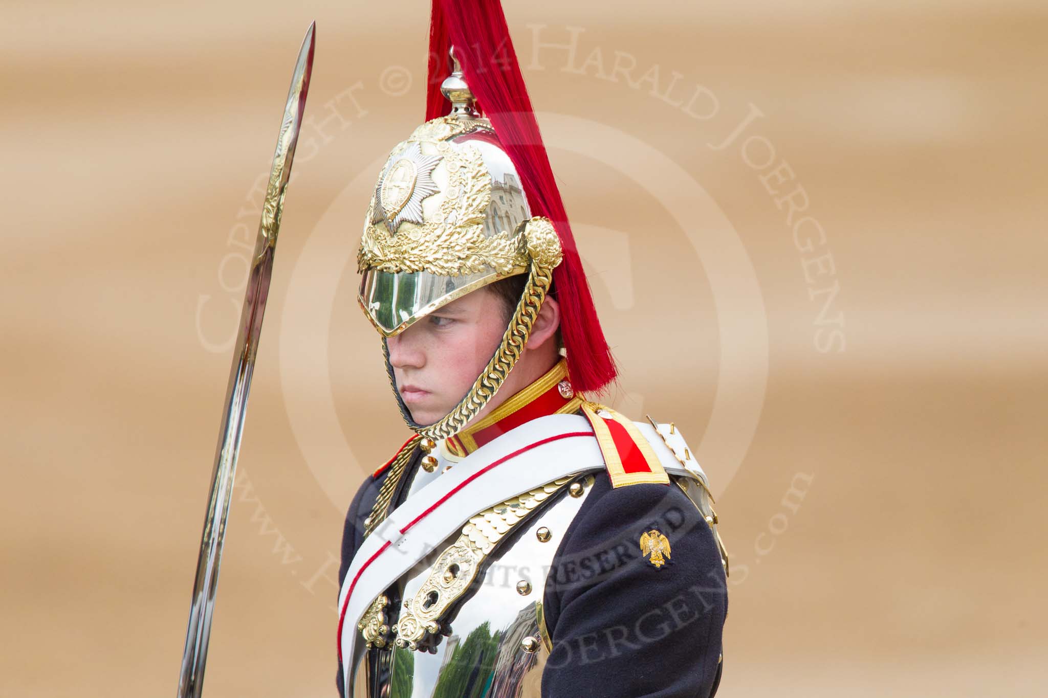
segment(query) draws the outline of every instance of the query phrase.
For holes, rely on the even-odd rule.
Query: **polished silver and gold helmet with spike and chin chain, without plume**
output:
[[[397,143],[378,175],[357,252],[361,307],[385,347],[386,338],[466,293],[515,274],[528,282],[502,344],[455,410],[418,425],[393,384],[408,425],[434,438],[456,433],[498,390],[562,258],[552,223],[531,217],[514,163],[477,112],[457,61],[441,91],[452,112]],[[387,369],[393,382],[388,350]]]

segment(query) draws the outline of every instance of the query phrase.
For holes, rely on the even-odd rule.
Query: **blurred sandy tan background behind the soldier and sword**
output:
[[[175,691],[253,187],[315,19],[204,688],[334,695],[330,556],[407,435],[353,257],[423,112],[428,4],[0,14],[0,694]],[[720,495],[719,695],[1042,695],[1048,8],[507,15],[615,404],[675,421]]]

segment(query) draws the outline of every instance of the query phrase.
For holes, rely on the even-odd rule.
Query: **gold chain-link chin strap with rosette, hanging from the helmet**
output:
[[[455,409],[434,424],[417,425],[400,401],[393,370],[389,368],[389,346],[385,339],[383,340],[383,355],[386,357],[386,365],[389,368],[390,386],[393,388],[393,395],[397,398],[397,404],[400,405],[400,412],[405,421],[418,436],[440,441],[454,436],[465,427],[470,420],[484,408],[487,401],[495,397],[503,381],[506,380],[509,370],[520,358],[528,337],[531,336],[531,328],[534,325],[536,318],[539,317],[539,310],[542,308],[546,294],[549,292],[549,286],[553,282],[553,269],[561,263],[563,253],[556,230],[548,219],[534,217],[521,225],[524,226],[523,234],[527,240],[527,251],[530,258],[527,285],[517,303],[514,317],[502,336],[499,350],[481,371],[473,387],[470,388],[470,392]]]

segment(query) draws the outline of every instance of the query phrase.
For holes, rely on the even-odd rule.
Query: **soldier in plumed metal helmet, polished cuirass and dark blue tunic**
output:
[[[615,365],[500,4],[434,0],[430,49],[357,255],[413,435],[346,517],[339,690],[713,696],[706,478],[673,424],[587,398]]]

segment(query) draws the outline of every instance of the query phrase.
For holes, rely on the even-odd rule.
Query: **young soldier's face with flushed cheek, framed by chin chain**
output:
[[[430,425],[452,411],[505,332],[505,306],[485,287],[390,337],[390,365],[411,418]]]

